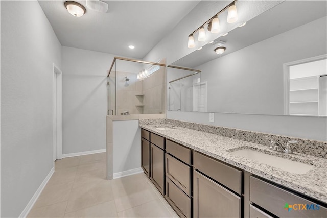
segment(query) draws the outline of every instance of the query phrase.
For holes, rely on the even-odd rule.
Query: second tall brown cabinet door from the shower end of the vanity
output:
[[[161,195],[164,195],[164,179],[165,179],[165,152],[159,147],[151,143],[151,176],[150,179],[153,184],[161,192]]]

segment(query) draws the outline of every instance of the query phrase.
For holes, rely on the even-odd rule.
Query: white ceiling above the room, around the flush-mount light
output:
[[[104,1],[108,12],[87,10],[74,17],[64,2],[39,4],[61,45],[119,56],[143,58],[199,1]],[[131,50],[128,45],[134,45]]]

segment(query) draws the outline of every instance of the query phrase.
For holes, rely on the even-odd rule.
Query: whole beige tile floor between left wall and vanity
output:
[[[106,180],[106,153],[63,158],[28,217],[178,217],[144,173]]]

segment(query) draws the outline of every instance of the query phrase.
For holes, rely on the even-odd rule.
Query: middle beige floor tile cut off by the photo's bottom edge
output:
[[[109,201],[72,213],[66,213],[65,217],[117,217],[117,212],[114,201]]]

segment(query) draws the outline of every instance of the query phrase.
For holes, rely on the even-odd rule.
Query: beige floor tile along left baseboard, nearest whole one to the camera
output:
[[[33,208],[43,207],[67,201],[72,191],[73,182],[58,185],[46,185]]]

